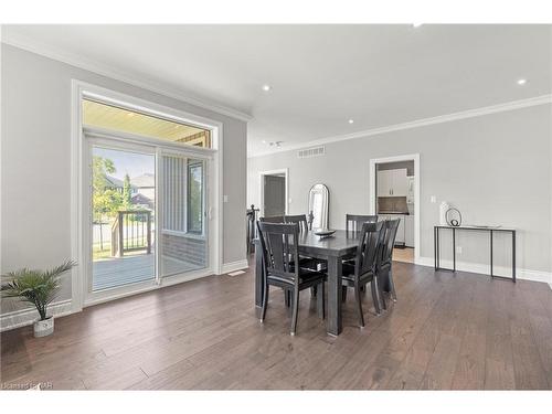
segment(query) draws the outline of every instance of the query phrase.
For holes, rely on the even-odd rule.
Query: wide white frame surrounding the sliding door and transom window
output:
[[[157,117],[162,117],[168,120],[174,120],[184,124],[195,125],[198,127],[211,130],[213,142],[212,149],[185,147],[185,151],[195,156],[210,158],[212,161],[213,177],[213,198],[209,205],[209,217],[212,233],[210,232],[212,252],[210,254],[209,268],[205,272],[190,273],[185,277],[170,277],[162,282],[161,285],[140,286],[139,289],[134,289],[131,293],[115,291],[113,295],[103,296],[97,300],[87,301],[85,304],[85,280],[87,280],[86,264],[89,262],[87,252],[88,243],[86,237],[89,235],[87,226],[89,224],[89,208],[86,209],[85,189],[88,185],[89,177],[85,173],[89,170],[91,160],[87,159],[89,150],[86,147],[85,128],[83,125],[82,99],[88,97],[106,104],[114,104],[119,107],[126,107],[131,110],[138,110],[146,114],[151,114]],[[72,79],[72,116],[71,116],[71,246],[72,258],[76,259],[81,266],[76,266],[71,274],[72,277],[72,311],[81,311],[83,307],[100,301],[112,300],[118,297],[135,295],[140,291],[156,289],[162,286],[169,286],[193,278],[203,277],[206,275],[222,273],[223,266],[223,124],[216,120],[197,116],[194,114],[184,113],[171,107],[155,104],[134,96],[125,95],[112,89],[107,89],[86,82]],[[87,128],[87,134],[91,130]],[[96,136],[103,135],[108,137],[110,131],[95,128],[93,131]],[[121,140],[135,141],[139,144],[153,144],[159,141],[148,137],[136,136],[131,134],[117,132]],[[173,147],[174,149],[183,149],[182,146],[163,142],[163,147]],[[208,190],[209,191],[209,190]]]

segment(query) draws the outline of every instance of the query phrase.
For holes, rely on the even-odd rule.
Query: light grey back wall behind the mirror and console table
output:
[[[446,200],[463,212],[465,224],[519,229],[518,267],[549,273],[551,118],[551,105],[541,105],[332,142],[325,157],[299,159],[297,151],[284,151],[250,158],[247,204],[259,202],[259,171],[289,168],[290,214],[307,212],[308,191],[321,182],[330,191],[329,225],[343,229],[346,213],[369,211],[371,158],[420,153],[421,256],[433,257],[433,225],[438,223],[440,201]],[[431,195],[437,203],[429,202]],[[458,259],[488,264],[487,237],[461,234]],[[496,266],[510,265],[508,248],[509,240],[497,235]],[[446,258],[447,252],[443,253]]]

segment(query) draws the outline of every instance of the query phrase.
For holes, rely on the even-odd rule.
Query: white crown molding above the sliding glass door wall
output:
[[[95,74],[109,77],[126,84],[139,87],[141,89],[150,91],[159,95],[163,95],[173,99],[184,102],[187,104],[200,107],[202,109],[212,110],[213,113],[225,115],[232,118],[236,118],[244,121],[251,121],[253,116],[241,112],[235,108],[231,108],[224,105],[211,103],[201,98],[192,97],[184,91],[177,87],[163,85],[153,79],[147,79],[136,74],[125,73],[124,71],[117,71],[107,65],[100,64],[98,62],[93,62],[82,56],[77,56],[72,53],[66,53],[57,47],[52,47],[46,45],[35,39],[29,36],[23,36],[15,34],[13,32],[2,31],[1,42],[9,44],[11,46],[25,50],[31,53],[39,54],[44,57],[52,59],[62,63],[66,63],[71,66],[75,66],[85,71],[93,72]]]

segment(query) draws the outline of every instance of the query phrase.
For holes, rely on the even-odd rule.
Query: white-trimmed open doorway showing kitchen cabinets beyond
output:
[[[420,157],[370,160],[370,210],[380,220],[400,220],[393,259],[420,257]]]

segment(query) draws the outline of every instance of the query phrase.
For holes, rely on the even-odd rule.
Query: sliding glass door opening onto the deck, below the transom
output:
[[[89,137],[88,301],[209,268],[208,157]]]

